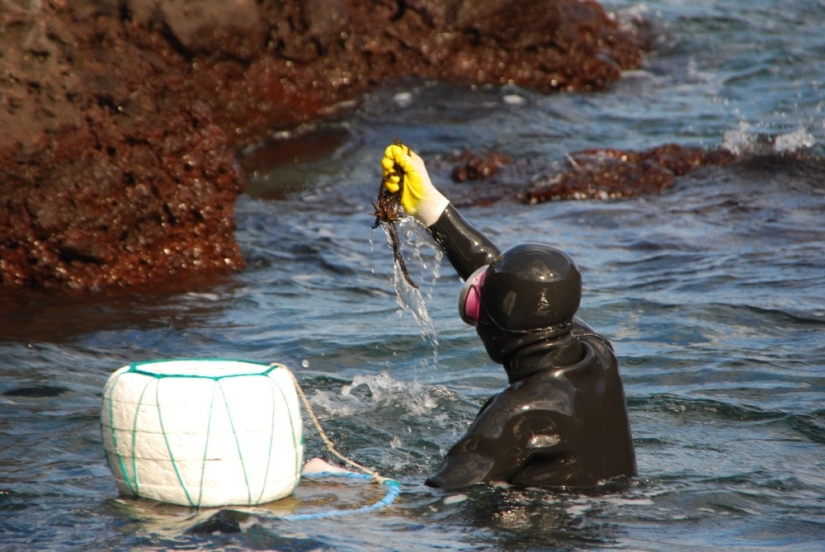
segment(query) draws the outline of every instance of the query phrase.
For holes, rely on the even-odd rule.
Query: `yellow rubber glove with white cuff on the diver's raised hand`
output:
[[[450,203],[433,186],[424,161],[401,143],[384,150],[381,177],[383,186],[392,193],[403,183],[401,206],[425,227],[434,224]]]

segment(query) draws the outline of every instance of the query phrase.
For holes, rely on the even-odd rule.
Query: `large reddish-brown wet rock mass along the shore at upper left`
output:
[[[6,0],[0,284],[236,270],[235,149],[406,76],[592,90],[643,38],[594,2]]]

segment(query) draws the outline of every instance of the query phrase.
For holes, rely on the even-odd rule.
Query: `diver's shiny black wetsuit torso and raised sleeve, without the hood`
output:
[[[463,279],[501,254],[452,206],[428,231]],[[607,339],[575,317],[550,330],[513,334],[488,325],[478,333],[510,385],[486,402],[427,485],[593,487],[636,474],[624,390]]]

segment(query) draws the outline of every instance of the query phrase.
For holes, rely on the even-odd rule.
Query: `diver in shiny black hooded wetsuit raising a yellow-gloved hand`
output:
[[[581,275],[573,260],[536,243],[502,253],[435,189],[424,162],[404,145],[387,148],[382,169],[389,191],[403,182],[404,210],[465,280],[461,317],[510,381],[426,484],[580,488],[634,476],[618,363],[610,342],[574,316]]]

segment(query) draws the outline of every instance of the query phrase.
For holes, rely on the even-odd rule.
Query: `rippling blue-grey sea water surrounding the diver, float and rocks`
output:
[[[825,549],[825,2],[605,6],[659,37],[608,90],[404,81],[248,151],[244,272],[108,299],[0,292],[0,549]],[[371,228],[395,138],[447,195],[447,159],[464,148],[516,163],[668,142],[738,154],[660,195],[462,211],[502,248],[544,241],[578,262],[579,315],[621,364],[639,467],[628,489],[423,485],[506,379],[457,315],[449,264],[403,225],[416,295]],[[254,511],[119,497],[103,386],[172,357],[287,364],[339,450],[401,496],[309,521],[278,514],[382,491],[306,481]],[[305,426],[307,458],[323,454]]]

